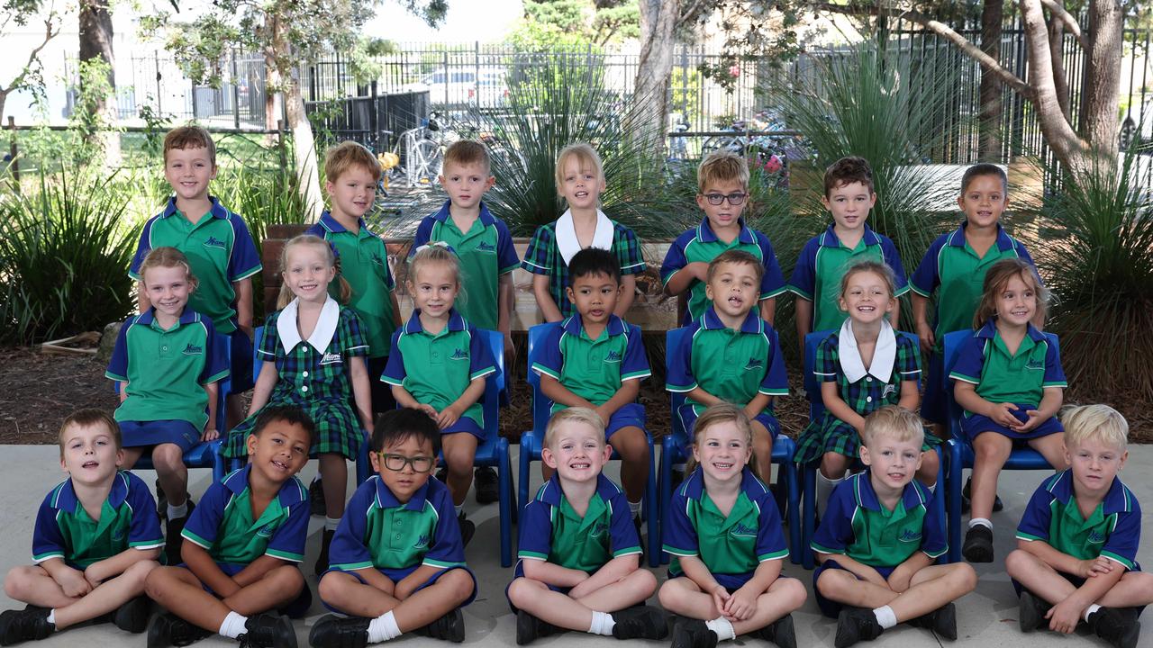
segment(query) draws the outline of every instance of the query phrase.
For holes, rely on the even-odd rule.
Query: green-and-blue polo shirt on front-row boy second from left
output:
[[[253,519],[253,491],[249,464],[209,487],[188,517],[184,540],[201,547],[217,563],[248,565],[261,556],[288,563],[304,559],[308,538],[308,491],[295,475],[256,520]]]

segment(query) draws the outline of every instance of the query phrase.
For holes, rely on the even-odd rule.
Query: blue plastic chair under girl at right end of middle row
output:
[[[949,374],[952,371],[954,364],[957,363],[957,355],[960,352],[960,347],[967,338],[973,336],[973,331],[954,331],[951,333],[944,334],[944,371],[941,374],[941,379],[944,383],[944,391],[948,394],[948,406],[949,406],[949,434],[952,436],[952,444],[949,447],[949,469],[945,473],[945,488],[949,491],[949,560],[958,562],[960,560],[960,544],[962,544],[962,520],[960,520],[960,491],[962,491],[962,479],[965,468],[973,467],[973,447],[966,440],[962,440],[960,435],[960,417],[964,414],[960,406],[952,397],[952,380],[949,379]],[[1061,346],[1057,342],[1057,337],[1053,333],[1046,333],[1045,337],[1049,339],[1049,344],[1057,349],[1060,355]],[[1013,449],[1009,453],[1009,459],[1005,460],[1004,470],[1053,470],[1053,466],[1045,460],[1045,457],[1033,450],[1032,447],[1020,447]]]

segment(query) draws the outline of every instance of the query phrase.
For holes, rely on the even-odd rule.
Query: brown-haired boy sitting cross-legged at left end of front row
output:
[[[5,594],[28,606],[0,615],[0,646],[88,620],[127,632],[144,632],[148,621],[144,579],[164,538],[148,485],[116,470],[120,428],[99,409],[81,409],[65,419],[56,442],[68,479],[36,514],[36,565],[13,567],[3,579]]]

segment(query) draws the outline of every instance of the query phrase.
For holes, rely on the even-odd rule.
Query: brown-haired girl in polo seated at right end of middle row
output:
[[[1027,444],[1057,470],[1069,467],[1060,432],[1065,374],[1057,349],[1031,322],[1045,321],[1049,293],[1028,262],[998,261],[985,274],[977,332],[957,352],[949,374],[965,409],[964,440],[973,446],[972,518],[962,553],[993,562],[993,498],[1013,445]]]

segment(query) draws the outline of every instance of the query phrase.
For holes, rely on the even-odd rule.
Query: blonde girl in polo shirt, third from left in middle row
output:
[[[476,327],[457,312],[460,261],[447,248],[421,248],[409,265],[408,293],[413,315],[392,336],[389,364],[380,380],[392,386],[401,407],[428,414],[443,435],[449,466],[445,480],[452,493],[464,544],[475,526],[465,518],[465,496],[473,481],[473,459],[484,438],[484,377],[497,368]]]

